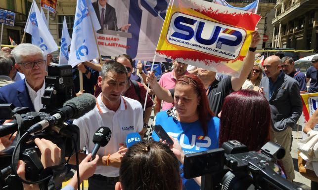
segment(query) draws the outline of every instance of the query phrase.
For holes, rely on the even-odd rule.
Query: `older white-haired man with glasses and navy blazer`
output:
[[[11,52],[14,65],[25,75],[24,80],[0,88],[0,104],[13,104],[15,107],[29,107],[39,112],[43,108],[41,97],[45,91],[46,63],[42,50],[30,43],[21,43]]]

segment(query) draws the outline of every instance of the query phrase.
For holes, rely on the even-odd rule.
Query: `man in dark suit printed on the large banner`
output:
[[[123,32],[128,30],[128,28],[131,26],[131,24],[126,24],[122,26],[120,29],[118,29],[116,10],[114,7],[112,7],[111,5],[107,3],[107,0],[97,0],[93,2],[92,5],[94,7],[96,16],[98,18],[101,31],[104,29],[104,25],[108,25],[107,30],[114,30],[114,31],[120,30]],[[102,18],[102,16],[104,16],[104,18]]]

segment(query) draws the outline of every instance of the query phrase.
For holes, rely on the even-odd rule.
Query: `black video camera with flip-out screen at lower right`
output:
[[[258,153],[231,140],[219,149],[186,154],[183,172],[186,179],[202,176],[201,190],[302,190],[274,171],[274,160],[284,155],[273,142]]]

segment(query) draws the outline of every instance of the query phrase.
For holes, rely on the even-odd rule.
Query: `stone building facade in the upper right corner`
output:
[[[318,50],[318,1],[277,0],[272,47]]]

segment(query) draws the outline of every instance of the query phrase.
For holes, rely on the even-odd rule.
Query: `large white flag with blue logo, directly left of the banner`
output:
[[[69,65],[74,67],[78,63],[99,57],[94,37],[94,33],[99,29],[100,24],[91,0],[77,0]]]

